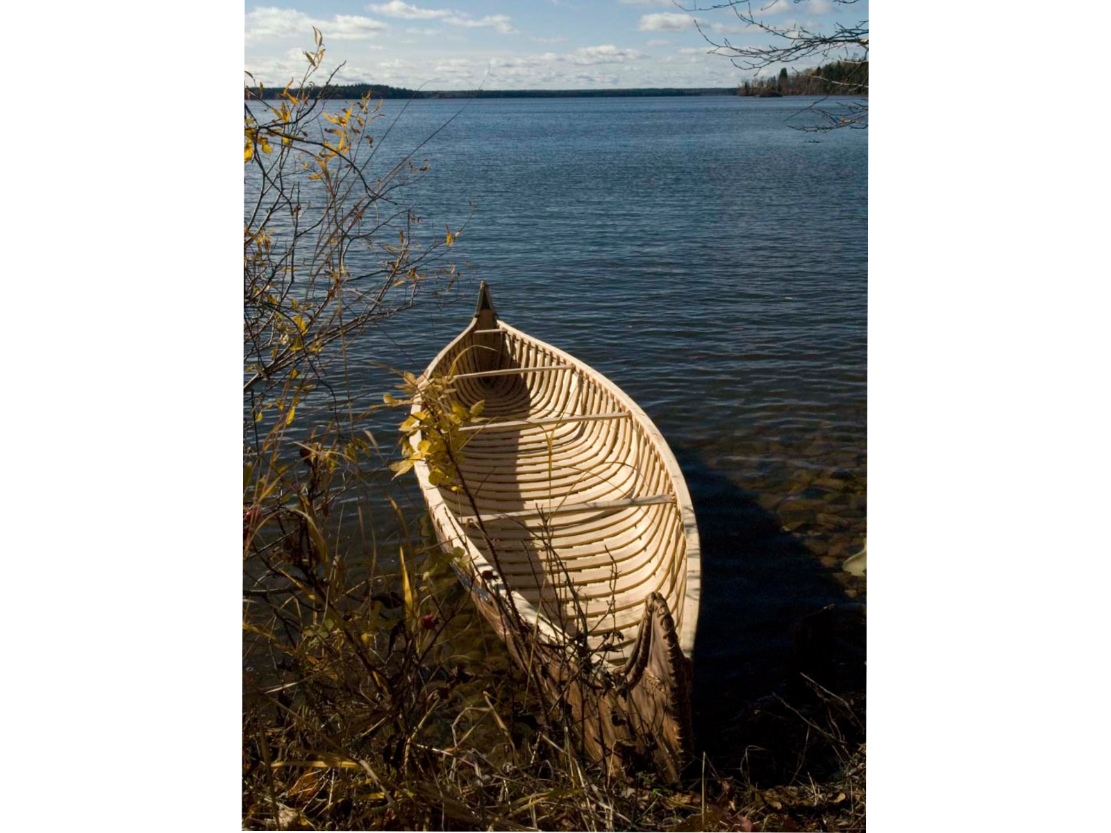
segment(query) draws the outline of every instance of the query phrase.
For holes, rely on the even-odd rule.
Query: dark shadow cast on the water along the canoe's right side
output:
[[[753,702],[798,681],[800,622],[831,604],[838,612],[858,614],[862,622],[861,605],[845,598],[802,540],[783,531],[753,492],[705,465],[694,450],[682,445],[673,450],[691,492],[702,544],[702,601],[693,658],[695,745],[729,766],[743,755],[730,727]],[[839,674],[823,685],[862,688],[862,643],[861,626],[848,645],[832,640],[818,645],[827,654],[842,652],[841,666],[851,666],[849,675]],[[824,664],[832,666],[838,659],[825,656]]]

